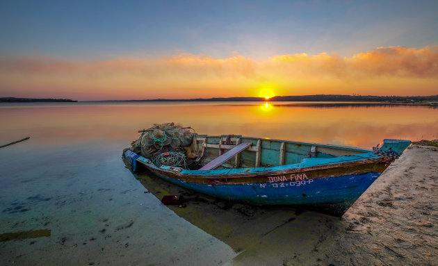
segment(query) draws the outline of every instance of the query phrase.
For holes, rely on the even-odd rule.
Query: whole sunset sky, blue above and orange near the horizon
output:
[[[438,1],[0,0],[0,97],[438,94]]]

